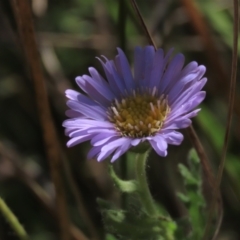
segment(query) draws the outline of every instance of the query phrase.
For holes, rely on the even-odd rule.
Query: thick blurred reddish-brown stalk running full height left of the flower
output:
[[[60,238],[70,240],[69,217],[65,193],[61,179],[61,156],[58,145],[58,138],[50,113],[49,102],[44,82],[44,76],[41,69],[41,62],[37,50],[37,44],[34,34],[34,26],[30,1],[12,0],[16,22],[19,34],[25,50],[27,62],[31,70],[35,86],[38,114],[43,130],[43,137],[49,159],[50,171],[56,191],[56,207],[60,227]]]

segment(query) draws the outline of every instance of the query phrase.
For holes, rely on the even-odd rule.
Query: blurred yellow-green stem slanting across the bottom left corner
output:
[[[0,212],[2,212],[3,216],[7,219],[7,221],[21,240],[28,239],[28,235],[25,229],[22,227],[16,216],[13,214],[11,209],[7,206],[7,204],[3,201],[2,198],[0,198]]]

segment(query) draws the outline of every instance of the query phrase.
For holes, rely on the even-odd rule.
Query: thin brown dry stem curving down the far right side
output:
[[[234,26],[233,26],[233,54],[232,54],[232,70],[231,70],[231,81],[230,81],[230,92],[229,92],[229,101],[228,101],[228,114],[227,114],[227,126],[224,136],[224,144],[222,149],[222,156],[221,156],[221,162],[219,165],[218,173],[217,173],[217,180],[216,180],[216,186],[214,190],[214,195],[211,202],[210,212],[208,215],[208,221],[204,233],[204,240],[208,238],[209,230],[211,226],[212,221],[212,215],[213,215],[213,209],[217,201],[218,192],[222,180],[225,160],[226,160],[226,154],[228,149],[228,142],[229,142],[229,136],[230,136],[230,128],[231,128],[231,122],[232,122],[232,115],[233,115],[233,106],[234,106],[234,96],[235,96],[235,88],[236,88],[236,77],[237,77],[237,60],[238,60],[238,0],[233,0],[233,6],[234,6]]]

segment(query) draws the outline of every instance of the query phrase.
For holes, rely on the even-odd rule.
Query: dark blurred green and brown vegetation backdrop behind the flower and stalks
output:
[[[216,173],[226,126],[231,74],[233,9],[229,0],[137,1],[158,47],[185,55],[186,63],[207,67],[207,97],[193,120]],[[66,148],[66,89],[76,89],[75,77],[93,66],[103,74],[96,56],[112,59],[116,47],[133,63],[134,47],[147,39],[129,1],[32,0],[32,13],[42,68],[58,140],[61,169],[72,232],[86,239],[105,239],[96,198],[121,205],[108,176],[108,161],[86,160],[89,143]],[[240,53],[240,51],[239,51]],[[238,81],[239,82],[239,81]],[[221,184],[224,218],[219,240],[240,239],[240,94],[237,83],[231,141]],[[79,90],[80,91],[80,90]],[[173,219],[187,215],[176,192],[183,189],[177,164],[192,147],[185,131],[179,147],[169,146],[166,158],[149,158],[149,183],[156,201]],[[49,171],[36,97],[12,6],[0,1],[0,197],[9,205],[32,240],[58,237],[54,187]],[[123,156],[114,167],[124,179],[133,178],[133,158]],[[206,197],[209,194],[206,193]],[[0,214],[0,239],[18,239]],[[81,239],[81,238],[76,238]],[[85,238],[82,238],[85,239]]]

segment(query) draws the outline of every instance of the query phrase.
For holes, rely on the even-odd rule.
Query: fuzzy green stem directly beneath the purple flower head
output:
[[[136,178],[139,184],[139,197],[149,216],[155,217],[157,211],[154,206],[154,201],[149,191],[147,175],[146,175],[146,163],[149,150],[145,153],[138,153],[136,156]]]

